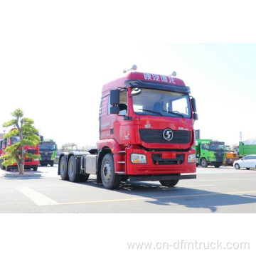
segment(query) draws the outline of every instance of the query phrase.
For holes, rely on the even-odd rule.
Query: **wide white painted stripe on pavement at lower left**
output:
[[[48,198],[47,196],[44,196],[42,193],[34,191],[32,188],[16,187],[16,190],[18,190],[21,193],[23,193],[23,195],[27,196],[34,203],[36,203],[38,206],[58,205],[57,202],[53,201],[52,199]]]

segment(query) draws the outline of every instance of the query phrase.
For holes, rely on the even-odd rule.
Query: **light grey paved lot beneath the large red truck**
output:
[[[62,181],[58,166],[0,172],[0,213],[256,213],[256,170],[198,168],[197,179],[174,188],[159,182],[124,182],[107,190]]]

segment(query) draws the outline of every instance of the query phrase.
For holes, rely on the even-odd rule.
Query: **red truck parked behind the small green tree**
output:
[[[18,135],[13,136],[8,139],[2,139],[0,142],[0,146],[1,146],[1,149],[0,149],[1,155],[0,156],[3,156],[6,153],[5,149],[7,146],[11,146],[12,144],[15,144],[17,142],[20,142],[20,137]],[[26,153],[39,155],[39,144],[37,144],[36,146],[24,146],[24,149],[25,149]],[[11,166],[4,166],[2,164],[3,161],[4,161],[3,159],[0,159],[0,168],[2,170],[9,171],[11,169],[18,169],[17,164],[13,164]],[[25,158],[24,167],[25,167],[25,169],[33,169],[33,171],[37,171],[39,164],[40,164],[39,157],[38,157],[38,159]]]

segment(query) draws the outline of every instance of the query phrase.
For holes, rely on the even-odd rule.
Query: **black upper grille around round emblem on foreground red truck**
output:
[[[169,142],[164,139],[163,132],[164,129],[139,129],[142,141],[147,143],[188,144],[191,141],[190,131],[173,131]]]

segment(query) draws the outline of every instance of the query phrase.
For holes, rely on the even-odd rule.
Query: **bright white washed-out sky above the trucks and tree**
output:
[[[175,70],[191,87],[202,139],[255,138],[256,43],[248,43],[245,26],[252,11],[247,1],[234,4],[231,23],[218,1],[214,15],[191,13],[196,4],[206,8],[193,3],[184,9],[159,1],[156,9],[154,1],[1,1],[0,132],[21,108],[59,147],[94,146],[102,85],[135,64],[145,73]],[[206,24],[207,15],[222,18]]]

